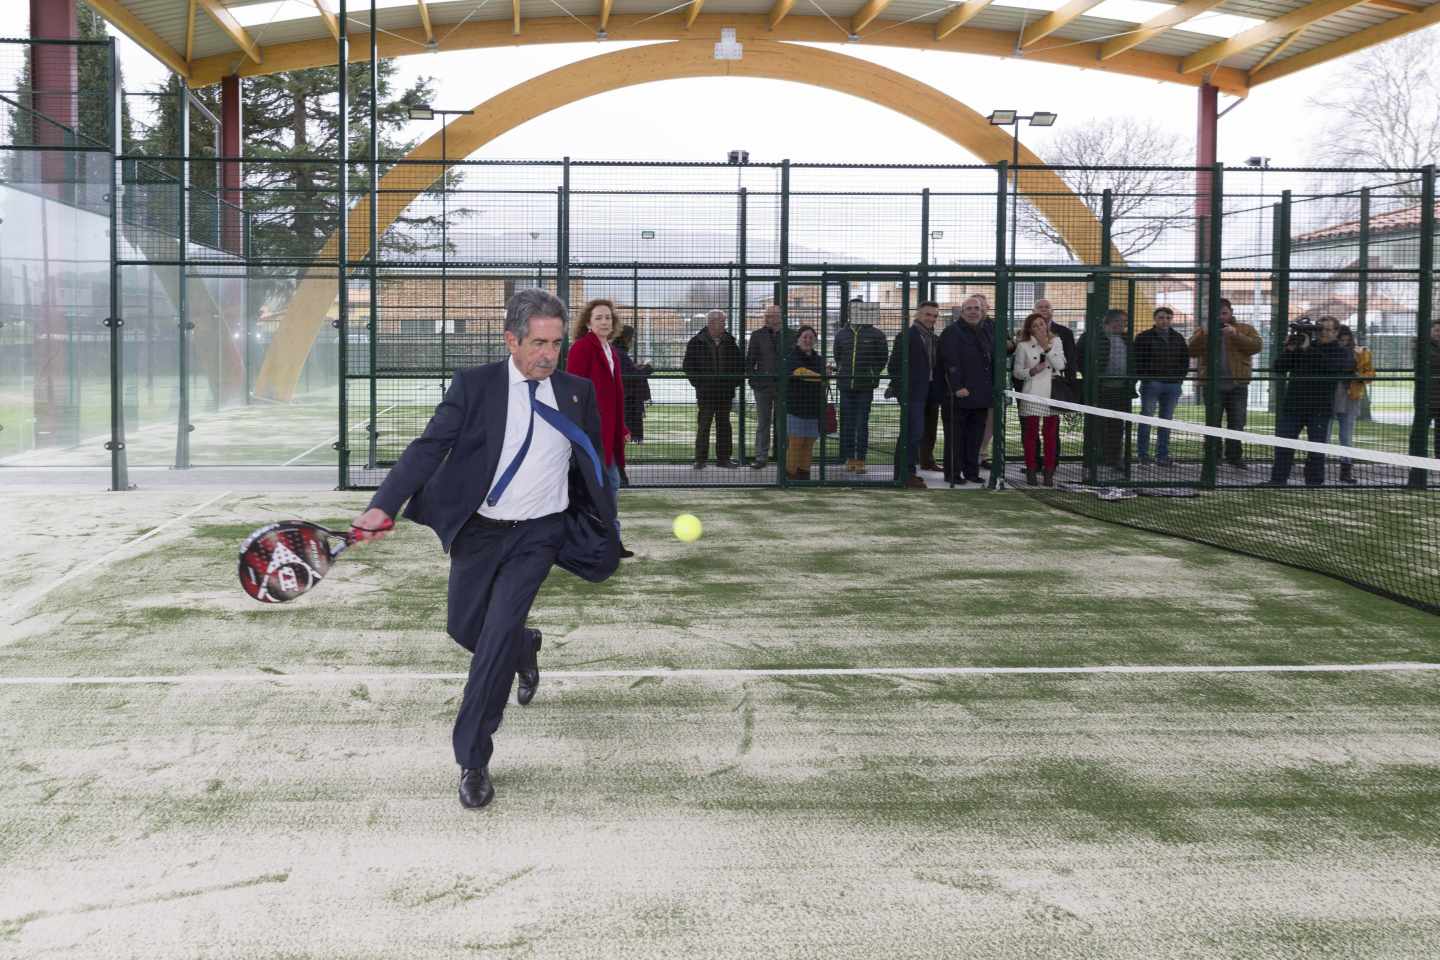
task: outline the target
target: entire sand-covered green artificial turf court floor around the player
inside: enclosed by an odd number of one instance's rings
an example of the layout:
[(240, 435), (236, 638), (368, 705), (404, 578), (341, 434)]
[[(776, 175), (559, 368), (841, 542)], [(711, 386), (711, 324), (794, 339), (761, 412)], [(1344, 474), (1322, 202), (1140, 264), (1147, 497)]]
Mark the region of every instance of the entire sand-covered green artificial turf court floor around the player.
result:
[(0, 957), (1440, 941), (1431, 615), (1018, 494), (625, 491), (639, 556), (552, 574), (540, 692), (467, 812), (428, 530), (292, 604), (235, 581), (253, 527), (364, 499), (10, 498)]

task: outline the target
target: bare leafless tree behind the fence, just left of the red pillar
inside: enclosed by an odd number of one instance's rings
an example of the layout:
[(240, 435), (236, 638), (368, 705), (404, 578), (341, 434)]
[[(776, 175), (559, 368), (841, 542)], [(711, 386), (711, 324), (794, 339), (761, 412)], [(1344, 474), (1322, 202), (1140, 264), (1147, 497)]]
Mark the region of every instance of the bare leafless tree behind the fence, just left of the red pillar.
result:
[[(1176, 168), (1189, 166), (1191, 154), (1188, 140), (1176, 138), (1153, 121), (1122, 115), (1067, 124), (1050, 142), (1044, 160), (1060, 167), (1056, 174), (1096, 219), (1104, 191), (1112, 191), (1110, 240), (1130, 259), (1155, 246), (1172, 226), (1194, 222), (1194, 174)], [(1022, 196), (1024, 186), (1021, 174)], [(1060, 230), (1028, 204), (1020, 210), (1020, 229), (1074, 255)]]

